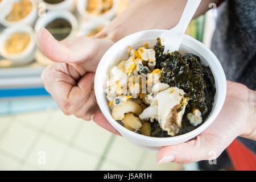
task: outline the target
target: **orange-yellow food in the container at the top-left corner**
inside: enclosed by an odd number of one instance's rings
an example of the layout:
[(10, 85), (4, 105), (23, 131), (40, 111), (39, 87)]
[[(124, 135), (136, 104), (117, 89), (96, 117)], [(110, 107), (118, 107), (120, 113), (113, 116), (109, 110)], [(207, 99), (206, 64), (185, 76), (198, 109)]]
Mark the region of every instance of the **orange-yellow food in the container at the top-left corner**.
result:
[(32, 3), (28, 0), (15, 2), (11, 12), (5, 17), (9, 22), (16, 22), (25, 18), (32, 10)]

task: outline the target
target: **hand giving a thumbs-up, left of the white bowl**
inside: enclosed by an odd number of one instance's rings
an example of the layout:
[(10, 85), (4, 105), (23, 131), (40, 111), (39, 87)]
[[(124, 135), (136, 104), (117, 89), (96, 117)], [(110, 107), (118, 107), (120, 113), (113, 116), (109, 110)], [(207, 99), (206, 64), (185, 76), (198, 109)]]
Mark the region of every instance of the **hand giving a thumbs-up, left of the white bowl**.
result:
[(89, 121), (100, 111), (94, 96), (94, 72), (114, 42), (86, 36), (58, 42), (45, 28), (37, 38), (44, 55), (55, 62), (42, 73), (47, 92), (65, 114)]

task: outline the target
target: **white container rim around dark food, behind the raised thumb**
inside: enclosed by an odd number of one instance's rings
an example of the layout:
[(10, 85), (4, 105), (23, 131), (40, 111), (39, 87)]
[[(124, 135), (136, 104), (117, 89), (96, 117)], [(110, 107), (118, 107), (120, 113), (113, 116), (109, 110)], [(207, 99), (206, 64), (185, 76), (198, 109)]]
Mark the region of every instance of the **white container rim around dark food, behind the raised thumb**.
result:
[(65, 39), (71, 39), (76, 36), (77, 31), (77, 19), (67, 10), (48, 11), (44, 16), (40, 17), (35, 24), (36, 33), (43, 27), (46, 27), (48, 23), (52, 22), (56, 18), (63, 18), (71, 23), (72, 30)]

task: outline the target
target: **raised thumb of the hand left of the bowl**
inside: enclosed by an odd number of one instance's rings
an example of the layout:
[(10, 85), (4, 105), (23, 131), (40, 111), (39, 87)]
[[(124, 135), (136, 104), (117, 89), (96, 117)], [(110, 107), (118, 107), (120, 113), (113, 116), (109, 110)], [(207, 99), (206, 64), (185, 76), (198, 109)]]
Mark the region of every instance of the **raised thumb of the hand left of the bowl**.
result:
[(54, 62), (79, 64), (92, 59), (97, 53), (96, 41), (86, 36), (59, 42), (46, 28), (42, 28), (37, 40), (44, 55)]

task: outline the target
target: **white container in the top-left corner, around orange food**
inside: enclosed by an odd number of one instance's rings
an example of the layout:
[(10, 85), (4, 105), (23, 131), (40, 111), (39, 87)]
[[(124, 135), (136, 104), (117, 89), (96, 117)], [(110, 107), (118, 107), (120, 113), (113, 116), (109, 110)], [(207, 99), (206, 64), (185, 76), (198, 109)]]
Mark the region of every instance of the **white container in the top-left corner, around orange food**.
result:
[(8, 13), (5, 13), (5, 15), (0, 16), (0, 22), (6, 27), (20, 26), (20, 25), (33, 26), (35, 23), (35, 20), (37, 18), (37, 12), (38, 12), (38, 7), (37, 7), (36, 1), (30, 0), (30, 2), (32, 3), (32, 10), (30, 11), (30, 13), (27, 16), (25, 16), (24, 18), (22, 18), (18, 21), (15, 21), (15, 22), (9, 22), (5, 19), (6, 15), (8, 15), (10, 13), (10, 11), (13, 9), (13, 3), (15, 3), (16, 1), (11, 0), (10, 2), (12, 2), (12, 5), (11, 6), (6, 5), (6, 10), (8, 11)]

